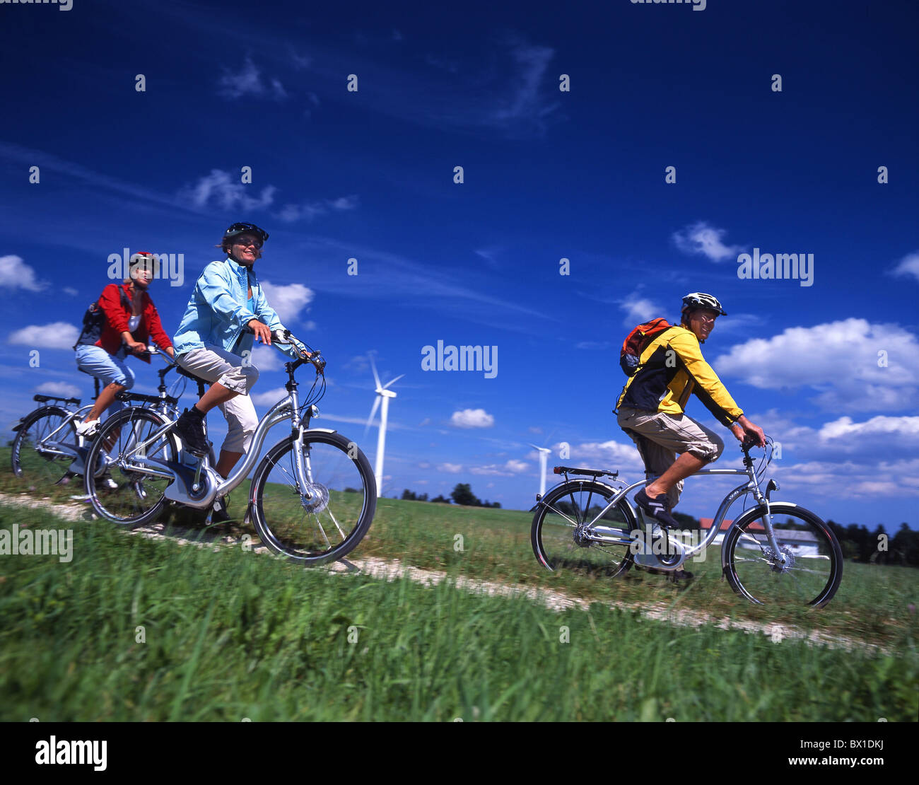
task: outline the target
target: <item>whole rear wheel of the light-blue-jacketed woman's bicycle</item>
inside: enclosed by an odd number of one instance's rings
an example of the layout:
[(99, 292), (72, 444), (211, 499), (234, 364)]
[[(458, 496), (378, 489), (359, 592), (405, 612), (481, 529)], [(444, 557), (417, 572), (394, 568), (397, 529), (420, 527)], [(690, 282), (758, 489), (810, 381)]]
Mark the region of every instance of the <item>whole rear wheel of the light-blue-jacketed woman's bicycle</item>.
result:
[[(151, 409), (130, 406), (102, 424), (86, 457), (85, 489), (96, 515), (132, 527), (159, 515), (165, 504), (166, 487), (172, 481), (149, 472), (131, 471), (131, 461), (125, 456), (168, 422)], [(176, 434), (169, 431), (158, 437), (144, 455), (177, 463), (180, 452)], [(100, 471), (104, 465), (108, 465), (108, 472)], [(117, 487), (109, 489), (108, 479)]]

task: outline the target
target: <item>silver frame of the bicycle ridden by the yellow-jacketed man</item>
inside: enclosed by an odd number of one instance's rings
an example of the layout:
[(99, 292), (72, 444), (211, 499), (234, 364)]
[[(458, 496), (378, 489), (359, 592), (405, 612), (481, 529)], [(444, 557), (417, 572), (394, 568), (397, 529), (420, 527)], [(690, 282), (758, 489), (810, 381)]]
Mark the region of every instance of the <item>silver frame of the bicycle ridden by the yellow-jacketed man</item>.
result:
[[(675, 569), (680, 564), (684, 563), (686, 559), (688, 559), (690, 556), (693, 556), (698, 552), (704, 551), (711, 544), (711, 542), (718, 536), (720, 532), (721, 522), (724, 520), (724, 517), (727, 515), (728, 510), (731, 508), (732, 504), (735, 501), (737, 501), (737, 499), (739, 499), (741, 496), (751, 494), (751, 493), (754, 495), (757, 506), (762, 505), (762, 504), (766, 505), (766, 515), (763, 518), (765, 529), (766, 529), (766, 539), (770, 547), (774, 550), (774, 552), (776, 552), (777, 554), (780, 554), (781, 563), (785, 563), (785, 556), (781, 555), (781, 549), (779, 548), (775, 530), (773, 529), (773, 526), (772, 526), (772, 516), (769, 512), (769, 492), (771, 491), (772, 488), (777, 488), (778, 485), (775, 483), (775, 481), (769, 480), (769, 484), (767, 485), (767, 488), (766, 488), (766, 494), (764, 494), (759, 487), (759, 482), (757, 481), (756, 474), (753, 470), (753, 460), (750, 459), (748, 456), (744, 459), (744, 463), (747, 464), (745, 469), (700, 469), (698, 472), (695, 472), (694, 474), (690, 475), (691, 477), (697, 477), (699, 475), (702, 475), (702, 476), (704, 475), (745, 476), (747, 478), (747, 481), (741, 485), (738, 485), (736, 488), (734, 488), (728, 495), (726, 495), (721, 500), (721, 503), (718, 507), (718, 512), (715, 514), (715, 518), (712, 520), (711, 528), (709, 529), (709, 533), (705, 536), (705, 539), (699, 542), (697, 545), (689, 546), (689, 547), (685, 547), (681, 543), (679, 550), (681, 552), (682, 557), (680, 558), (679, 562), (672, 564), (672, 565), (660, 563), (658, 565), (660, 566), (660, 568)], [(592, 541), (598, 542), (598, 543), (606, 543), (608, 545), (631, 545), (633, 540), (630, 537), (625, 537), (625, 538), (622, 537), (621, 529), (613, 529), (611, 527), (602, 526), (602, 525), (597, 524), (597, 521), (600, 518), (603, 518), (603, 516), (605, 516), (607, 512), (609, 512), (614, 506), (617, 506), (620, 501), (624, 502), (624, 504), (629, 506), (632, 515), (636, 519), (641, 519), (642, 521), (645, 521), (645, 518), (643, 515), (639, 516), (637, 514), (638, 512), (641, 512), (641, 510), (638, 510), (638, 511), (636, 510), (635, 506), (633, 506), (630, 503), (628, 495), (632, 491), (636, 490), (637, 488), (643, 487), (645, 484), (647, 484), (648, 480), (652, 478), (653, 478), (652, 475), (648, 475), (646, 479), (641, 480), (637, 483), (632, 483), (630, 485), (626, 485), (625, 482), (622, 480), (616, 480), (615, 482), (620, 484), (619, 488), (616, 488), (615, 486), (611, 484), (602, 482), (599, 478), (595, 478), (594, 480), (592, 480), (591, 482), (593, 483), (605, 485), (607, 488), (609, 488), (610, 491), (613, 492), (614, 495), (613, 495), (613, 498), (607, 504), (607, 506), (605, 506), (599, 513), (597, 513), (596, 516), (592, 520), (590, 520), (589, 522), (585, 522), (585, 527), (587, 531), (589, 532), (588, 534), (589, 539)], [(562, 483), (556, 484), (551, 490), (561, 487), (564, 484), (568, 484), (569, 482), (572, 482), (572, 481), (565, 480)], [(549, 495), (548, 491), (546, 495)], [(577, 525), (577, 522), (572, 521), (571, 518), (568, 518), (559, 510), (554, 510), (554, 512), (556, 512), (558, 515), (562, 515), (562, 517), (564, 518), (567, 518), (574, 525)], [(647, 523), (647, 521), (645, 521), (645, 523)], [(735, 528), (735, 526), (736, 526), (736, 522), (732, 523), (731, 527), (727, 531), (724, 532), (725, 538), (727, 538), (727, 535), (730, 533), (732, 529)], [(721, 553), (722, 564), (724, 563), (724, 560), (725, 560), (725, 554), (722, 552)]]

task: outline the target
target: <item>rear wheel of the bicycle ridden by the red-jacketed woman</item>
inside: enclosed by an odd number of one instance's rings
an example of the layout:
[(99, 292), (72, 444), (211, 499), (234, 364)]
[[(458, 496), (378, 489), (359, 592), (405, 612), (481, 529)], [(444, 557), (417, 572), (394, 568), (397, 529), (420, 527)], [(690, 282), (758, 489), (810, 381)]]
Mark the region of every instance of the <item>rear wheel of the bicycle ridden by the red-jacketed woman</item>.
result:
[(42, 406), (28, 415), (13, 439), (13, 473), (44, 488), (59, 482), (79, 446), (74, 416), (61, 406)]

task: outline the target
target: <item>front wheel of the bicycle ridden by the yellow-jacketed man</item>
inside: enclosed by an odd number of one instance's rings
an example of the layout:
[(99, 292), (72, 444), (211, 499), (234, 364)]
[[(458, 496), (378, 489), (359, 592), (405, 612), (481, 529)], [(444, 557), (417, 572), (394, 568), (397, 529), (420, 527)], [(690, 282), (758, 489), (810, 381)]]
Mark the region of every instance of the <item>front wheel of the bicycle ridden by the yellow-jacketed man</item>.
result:
[(823, 608), (843, 578), (839, 540), (803, 507), (774, 502), (769, 511), (778, 553), (766, 538), (766, 505), (748, 510), (735, 521), (722, 546), (728, 583), (757, 605)]

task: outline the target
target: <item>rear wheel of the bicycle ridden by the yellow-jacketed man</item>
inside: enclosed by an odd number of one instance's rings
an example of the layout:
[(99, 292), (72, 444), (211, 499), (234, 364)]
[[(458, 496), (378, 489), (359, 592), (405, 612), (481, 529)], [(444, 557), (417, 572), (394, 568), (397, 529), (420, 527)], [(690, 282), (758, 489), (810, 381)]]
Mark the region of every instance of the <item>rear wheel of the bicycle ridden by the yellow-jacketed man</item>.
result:
[[(542, 497), (530, 532), (533, 552), (549, 570), (576, 570), (616, 577), (632, 565), (630, 532), (638, 525), (625, 498), (600, 518), (617, 494), (615, 488), (591, 480), (572, 480)], [(596, 521), (595, 521), (595, 518)], [(609, 530), (629, 543), (604, 544), (589, 539), (588, 524)]]

